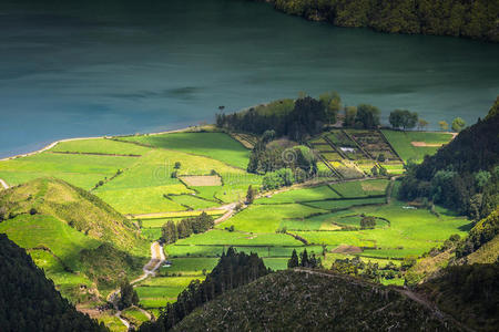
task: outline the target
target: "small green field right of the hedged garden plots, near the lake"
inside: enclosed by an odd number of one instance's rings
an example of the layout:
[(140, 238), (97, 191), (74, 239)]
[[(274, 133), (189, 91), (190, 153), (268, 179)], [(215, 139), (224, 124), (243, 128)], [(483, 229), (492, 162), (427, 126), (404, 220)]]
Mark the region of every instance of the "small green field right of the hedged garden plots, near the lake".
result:
[(424, 142), (426, 144), (442, 145), (452, 139), (452, 135), (448, 133), (431, 132), (398, 132), (384, 129), (383, 134), (395, 148), (397, 154), (407, 162), (421, 162), (425, 155), (432, 155), (438, 151), (438, 146), (419, 146), (416, 147), (411, 142)]

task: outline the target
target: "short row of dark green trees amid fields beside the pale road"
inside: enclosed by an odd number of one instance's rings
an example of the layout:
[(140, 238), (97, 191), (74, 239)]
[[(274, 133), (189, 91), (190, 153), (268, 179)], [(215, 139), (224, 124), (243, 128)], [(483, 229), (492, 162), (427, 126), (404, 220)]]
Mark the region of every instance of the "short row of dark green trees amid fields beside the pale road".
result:
[(192, 234), (205, 232), (213, 226), (215, 226), (213, 217), (205, 211), (198, 216), (182, 219), (176, 224), (169, 220), (161, 227), (160, 241), (166, 245), (174, 243), (179, 239), (189, 238)]

